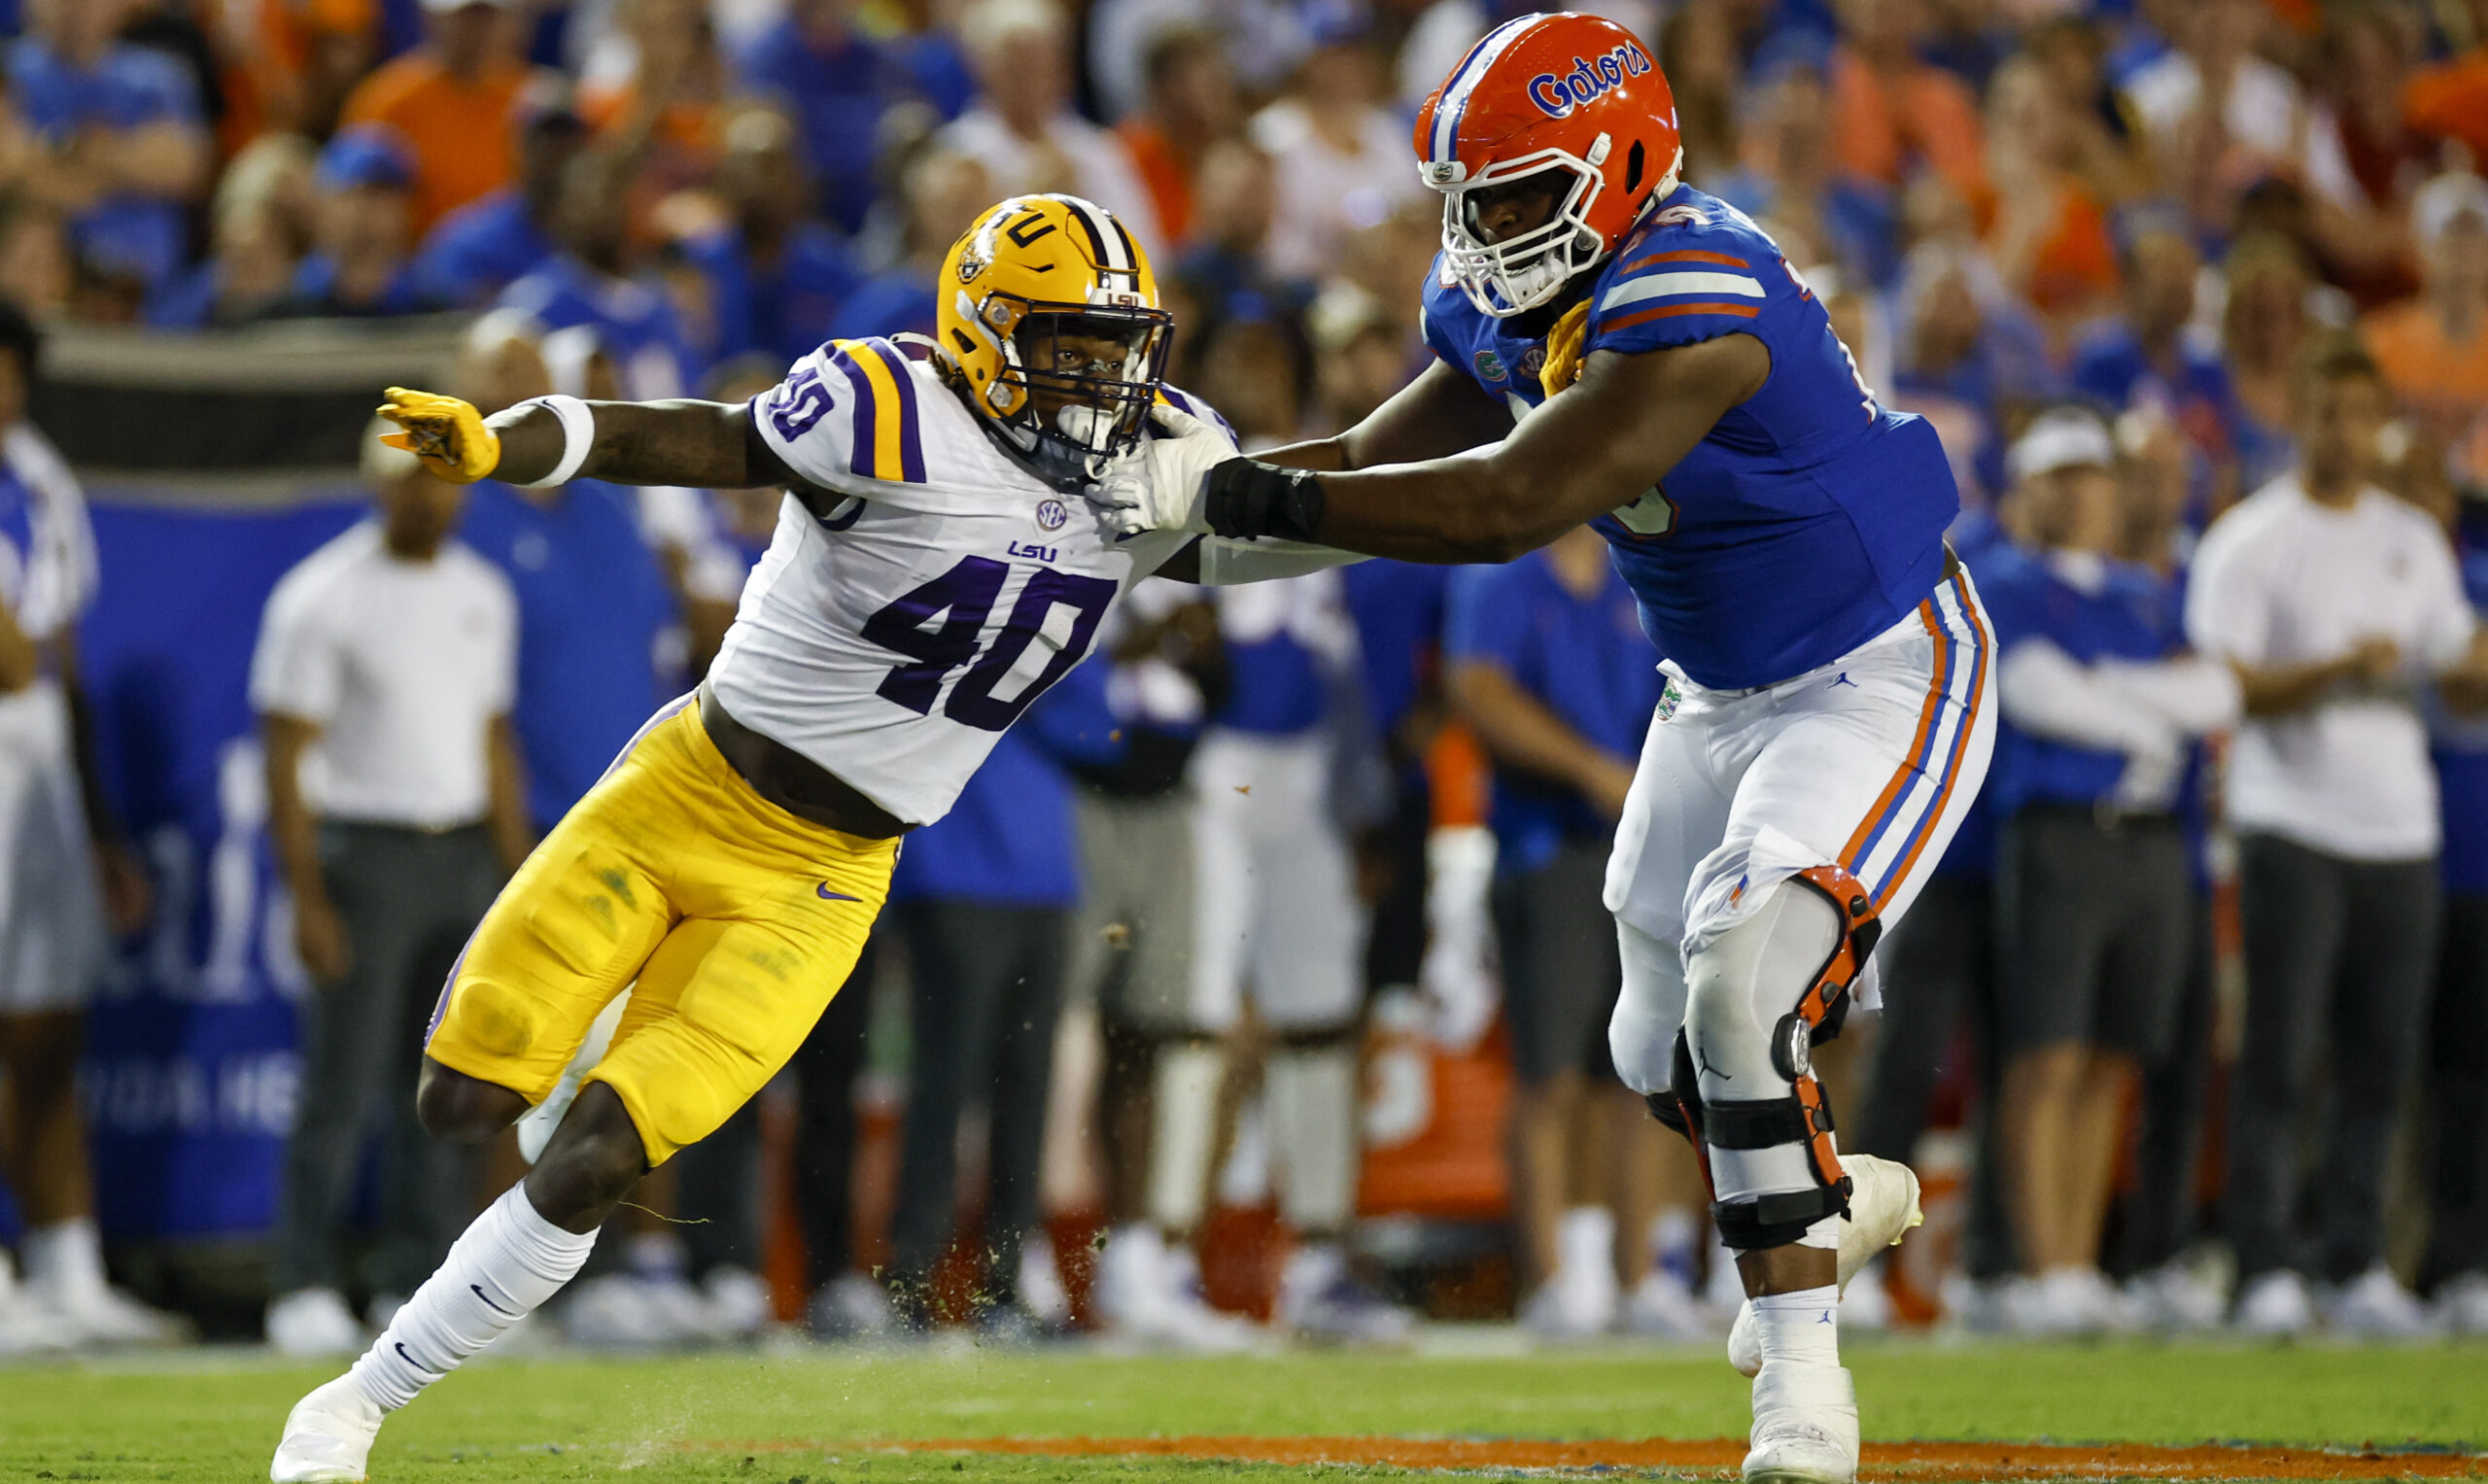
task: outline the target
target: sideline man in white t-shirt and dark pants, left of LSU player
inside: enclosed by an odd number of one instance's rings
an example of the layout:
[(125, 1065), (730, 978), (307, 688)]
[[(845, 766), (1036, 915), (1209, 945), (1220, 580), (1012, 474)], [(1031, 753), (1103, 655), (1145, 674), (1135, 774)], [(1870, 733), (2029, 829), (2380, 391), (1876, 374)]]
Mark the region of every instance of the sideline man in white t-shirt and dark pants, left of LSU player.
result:
[(341, 1237), (373, 1118), (388, 1125), (373, 1322), (473, 1213), (470, 1150), (423, 1138), (415, 1046), (435, 986), (527, 852), (518, 742), (518, 598), (450, 533), (465, 491), (363, 441), (378, 513), (286, 573), (251, 655), (269, 839), (294, 894), (304, 1088), (286, 1145), (266, 1335), (351, 1352)]

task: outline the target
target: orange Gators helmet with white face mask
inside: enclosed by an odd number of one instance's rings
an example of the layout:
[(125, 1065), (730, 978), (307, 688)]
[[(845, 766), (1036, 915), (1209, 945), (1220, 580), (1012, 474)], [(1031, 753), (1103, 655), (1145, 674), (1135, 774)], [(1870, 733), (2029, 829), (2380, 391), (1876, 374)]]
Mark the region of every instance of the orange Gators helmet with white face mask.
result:
[[(1523, 15), (1485, 32), (1416, 115), (1418, 177), (1443, 192), (1443, 264), (1495, 319), (1553, 299), (1677, 189), (1677, 100), (1630, 30)], [(1478, 192), (1560, 172), (1555, 212), (1510, 242), (1478, 232)]]

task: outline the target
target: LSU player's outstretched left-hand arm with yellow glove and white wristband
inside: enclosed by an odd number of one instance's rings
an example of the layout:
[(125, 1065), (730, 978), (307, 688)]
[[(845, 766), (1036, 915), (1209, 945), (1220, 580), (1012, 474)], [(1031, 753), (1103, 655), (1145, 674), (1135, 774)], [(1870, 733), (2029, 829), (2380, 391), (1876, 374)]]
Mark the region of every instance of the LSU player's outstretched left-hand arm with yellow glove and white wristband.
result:
[[(796, 483), (751, 426), (751, 408), (724, 401), (592, 401), (595, 441), (577, 478), (622, 486), (744, 491)], [(530, 483), (562, 463), (562, 421), (542, 403), (480, 418), (453, 396), (388, 388), (381, 416), (403, 426), (406, 448), (455, 481)]]

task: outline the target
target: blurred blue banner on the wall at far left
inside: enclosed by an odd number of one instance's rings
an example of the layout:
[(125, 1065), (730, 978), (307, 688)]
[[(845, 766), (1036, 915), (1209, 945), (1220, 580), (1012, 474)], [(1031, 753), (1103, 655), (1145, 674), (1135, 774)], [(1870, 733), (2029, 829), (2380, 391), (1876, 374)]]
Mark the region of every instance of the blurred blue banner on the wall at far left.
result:
[(294, 911), (266, 849), (249, 705), (269, 590), (363, 513), (361, 493), (271, 513), (114, 505), (80, 630), (104, 789), (157, 889), (87, 1021), (85, 1093), (107, 1235), (264, 1233), (294, 1125)]

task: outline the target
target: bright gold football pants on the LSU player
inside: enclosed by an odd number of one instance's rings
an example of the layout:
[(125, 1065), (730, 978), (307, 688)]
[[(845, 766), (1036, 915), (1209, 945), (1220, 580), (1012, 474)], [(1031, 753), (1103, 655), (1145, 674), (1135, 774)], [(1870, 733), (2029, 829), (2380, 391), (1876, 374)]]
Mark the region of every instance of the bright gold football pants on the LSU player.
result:
[(856, 966), (896, 862), (896, 839), (761, 799), (677, 702), (493, 901), (425, 1053), (542, 1103), (637, 981), (587, 1081), (622, 1096), (659, 1165), (786, 1066)]

